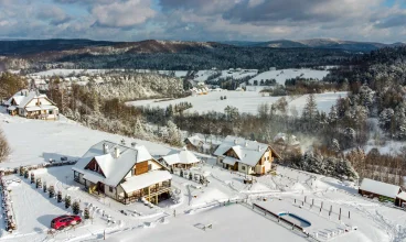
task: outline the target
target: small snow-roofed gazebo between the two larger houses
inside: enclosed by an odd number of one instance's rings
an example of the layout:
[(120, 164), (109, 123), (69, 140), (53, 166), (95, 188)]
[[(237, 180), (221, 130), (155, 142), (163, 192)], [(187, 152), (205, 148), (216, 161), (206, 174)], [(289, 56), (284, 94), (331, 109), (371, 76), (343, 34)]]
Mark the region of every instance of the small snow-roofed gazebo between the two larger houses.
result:
[(190, 169), (200, 163), (200, 160), (191, 151), (188, 151), (186, 147), (180, 152), (172, 151), (168, 155), (162, 156), (159, 161), (168, 167), (184, 169)]

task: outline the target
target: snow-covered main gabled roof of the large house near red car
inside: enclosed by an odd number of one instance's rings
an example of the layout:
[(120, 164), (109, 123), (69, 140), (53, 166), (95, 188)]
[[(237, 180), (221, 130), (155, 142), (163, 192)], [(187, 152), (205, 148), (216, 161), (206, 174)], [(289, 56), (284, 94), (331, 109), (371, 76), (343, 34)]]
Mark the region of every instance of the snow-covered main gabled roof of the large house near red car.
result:
[[(104, 152), (104, 144), (108, 145), (106, 154)], [(119, 151), (117, 158), (114, 155), (116, 147)], [(109, 186), (117, 186), (137, 163), (153, 160), (143, 145), (128, 147), (110, 141), (101, 141), (93, 145), (72, 169), (85, 175), (97, 174), (96, 172), (85, 169), (93, 158), (96, 160), (105, 175), (103, 183)]]

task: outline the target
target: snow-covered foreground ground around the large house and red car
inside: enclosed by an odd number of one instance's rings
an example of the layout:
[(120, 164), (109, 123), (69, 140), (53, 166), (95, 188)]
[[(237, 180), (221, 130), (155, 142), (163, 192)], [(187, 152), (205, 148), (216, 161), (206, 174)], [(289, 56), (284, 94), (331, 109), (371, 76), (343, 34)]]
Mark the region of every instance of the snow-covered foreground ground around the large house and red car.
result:
[[(43, 163), (49, 157), (67, 156), (74, 160), (100, 140), (119, 142), (126, 139), (132, 142), (129, 138), (90, 130), (68, 120), (25, 120), (0, 113), (0, 127), (12, 148), (9, 161), (1, 164), (2, 167)], [(172, 150), (162, 144), (136, 142), (145, 144), (154, 156)], [(193, 174), (209, 174), (207, 187), (180, 177), (175, 172), (172, 186), (179, 191), (178, 202), (162, 201), (153, 208), (141, 202), (124, 206), (108, 198), (88, 195), (73, 182), (71, 166), (38, 169), (34, 173), (35, 177), (41, 177), (49, 186), (55, 186), (63, 195), (79, 200), (81, 209), (90, 208), (94, 219), (75, 229), (47, 234), (52, 218), (70, 213), (72, 209), (65, 209), (63, 204), (35, 189), (28, 179), (10, 175), (7, 179), (15, 182), (10, 189), (18, 230), (9, 234), (3, 227), (0, 228), (0, 241), (101, 241), (104, 233), (107, 241), (125, 242), (307, 240), (299, 230), (292, 231), (269, 215), (253, 210), (253, 204), (275, 213), (289, 211), (308, 220), (311, 226), (306, 228), (307, 232), (310, 235), (317, 233), (319, 241), (392, 242), (406, 239), (405, 211), (360, 197), (351, 183), (282, 166), (277, 167), (277, 175), (249, 177), (255, 182), (248, 185), (244, 184), (245, 175), (225, 170), (215, 165), (214, 158), (209, 158), (192, 169)], [(21, 182), (17, 183), (18, 179)], [(228, 204), (228, 200), (236, 199), (238, 205)], [(301, 202), (303, 206), (300, 208)], [(320, 212), (321, 204), (323, 208)], [(329, 218), (330, 207), (332, 213)], [(340, 208), (342, 217), (339, 220)], [(108, 223), (106, 215), (115, 222)], [(212, 227), (209, 228), (209, 224)], [(344, 229), (349, 232), (342, 232)]]

